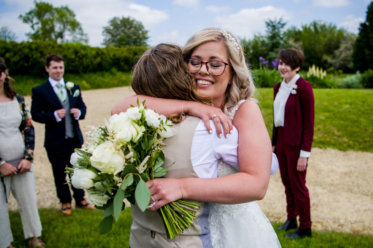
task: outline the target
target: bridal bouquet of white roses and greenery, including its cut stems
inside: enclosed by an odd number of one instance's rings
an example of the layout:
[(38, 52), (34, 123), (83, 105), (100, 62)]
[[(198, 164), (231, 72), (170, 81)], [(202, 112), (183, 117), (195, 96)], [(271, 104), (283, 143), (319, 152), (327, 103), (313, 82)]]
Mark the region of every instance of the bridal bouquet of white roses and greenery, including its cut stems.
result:
[[(168, 167), (161, 167), (163, 139), (174, 136), (175, 129), (165, 116), (146, 109), (144, 102), (113, 115), (104, 126), (90, 126), (86, 133), (90, 143), (75, 149), (70, 160), (73, 168), (66, 168), (73, 186), (86, 189), (95, 207), (104, 210), (98, 225), (100, 235), (112, 229), (114, 218), (117, 221), (125, 207), (125, 198), (144, 212), (151, 197), (145, 182), (168, 173)], [(198, 207), (183, 200), (161, 207), (158, 213), (167, 238), (188, 228)]]

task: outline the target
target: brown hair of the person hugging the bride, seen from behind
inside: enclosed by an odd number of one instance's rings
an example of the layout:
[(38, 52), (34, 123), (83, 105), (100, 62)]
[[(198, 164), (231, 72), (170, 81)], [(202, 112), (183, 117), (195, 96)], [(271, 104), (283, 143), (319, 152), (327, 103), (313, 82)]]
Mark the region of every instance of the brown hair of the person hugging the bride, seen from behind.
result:
[[(144, 52), (134, 67), (131, 87), (139, 95), (211, 105), (210, 100), (198, 97), (181, 48), (173, 44), (161, 43)], [(178, 123), (182, 118), (177, 114), (170, 120)]]

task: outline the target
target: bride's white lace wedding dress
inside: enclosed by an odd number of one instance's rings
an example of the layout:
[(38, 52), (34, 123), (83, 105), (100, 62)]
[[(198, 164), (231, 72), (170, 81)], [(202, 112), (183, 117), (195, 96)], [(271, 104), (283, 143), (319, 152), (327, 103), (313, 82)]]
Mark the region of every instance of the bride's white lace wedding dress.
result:
[[(244, 101), (231, 107), (228, 114), (230, 119), (233, 119)], [(237, 172), (231, 165), (219, 160), (218, 177)], [(281, 247), (272, 224), (256, 202), (233, 205), (211, 203), (208, 222), (214, 248)]]

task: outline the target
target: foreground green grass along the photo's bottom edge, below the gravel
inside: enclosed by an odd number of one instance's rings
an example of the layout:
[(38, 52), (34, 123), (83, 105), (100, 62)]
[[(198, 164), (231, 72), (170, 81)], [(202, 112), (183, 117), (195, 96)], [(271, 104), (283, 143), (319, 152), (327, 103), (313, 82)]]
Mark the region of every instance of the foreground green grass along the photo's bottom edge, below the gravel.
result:
[[(131, 209), (125, 209), (119, 217), (118, 223), (113, 224), (111, 232), (98, 236), (97, 225), (102, 220), (101, 210), (74, 210), (72, 216), (62, 216), (56, 209), (40, 209), (40, 219), (43, 225), (43, 236), (46, 247), (65, 248), (116, 248), (128, 247), (129, 228), (132, 223)], [(18, 212), (10, 212), (13, 232), (13, 245), (17, 248), (27, 247), (23, 238), (21, 218)], [(277, 230), (280, 223), (272, 223)], [(339, 232), (315, 232), (313, 238), (292, 241), (285, 238), (284, 231), (277, 232), (283, 248), (368, 248), (373, 247), (372, 235), (358, 235)], [(250, 233), (248, 233), (250, 235)]]

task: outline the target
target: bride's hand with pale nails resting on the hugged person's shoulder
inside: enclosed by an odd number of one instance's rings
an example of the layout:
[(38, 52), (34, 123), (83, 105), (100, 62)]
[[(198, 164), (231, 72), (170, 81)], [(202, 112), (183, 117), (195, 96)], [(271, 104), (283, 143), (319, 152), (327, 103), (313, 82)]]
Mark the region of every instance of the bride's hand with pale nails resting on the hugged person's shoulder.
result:
[[(225, 113), (223, 113), (221, 109), (214, 107), (214, 106), (209, 106), (203, 103), (197, 103), (197, 102), (191, 102), (191, 101), (188, 101), (188, 102), (185, 101), (184, 104), (186, 107), (186, 112), (188, 112), (188, 114), (191, 116), (200, 117), (205, 123), (207, 131), (209, 131), (210, 133), (212, 133), (211, 126), (210, 126), (211, 119), (213, 120), (216, 126), (217, 136), (220, 137), (220, 134), (222, 134), (221, 125), (223, 125), (225, 137), (227, 136), (228, 133), (232, 131), (233, 129), (232, 120), (229, 119), (229, 117)], [(214, 115), (216, 115), (216, 117), (214, 117)]]

